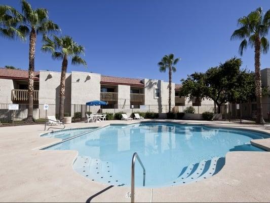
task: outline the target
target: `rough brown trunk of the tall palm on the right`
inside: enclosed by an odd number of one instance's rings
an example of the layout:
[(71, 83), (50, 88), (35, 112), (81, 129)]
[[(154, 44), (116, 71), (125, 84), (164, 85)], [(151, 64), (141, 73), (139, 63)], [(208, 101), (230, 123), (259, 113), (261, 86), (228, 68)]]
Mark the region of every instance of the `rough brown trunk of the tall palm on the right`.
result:
[(257, 123), (264, 123), (261, 104), (261, 74), (260, 74), (260, 37), (255, 39), (255, 94), (257, 99)]

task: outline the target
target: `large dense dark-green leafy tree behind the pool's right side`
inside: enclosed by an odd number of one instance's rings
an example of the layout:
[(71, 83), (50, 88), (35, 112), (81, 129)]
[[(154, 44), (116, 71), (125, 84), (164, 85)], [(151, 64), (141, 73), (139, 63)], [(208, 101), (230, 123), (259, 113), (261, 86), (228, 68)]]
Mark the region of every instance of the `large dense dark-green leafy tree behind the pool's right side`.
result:
[(221, 113), (221, 105), (232, 100), (240, 74), (241, 59), (232, 58), (206, 73), (195, 73), (182, 79), (181, 96), (212, 99)]

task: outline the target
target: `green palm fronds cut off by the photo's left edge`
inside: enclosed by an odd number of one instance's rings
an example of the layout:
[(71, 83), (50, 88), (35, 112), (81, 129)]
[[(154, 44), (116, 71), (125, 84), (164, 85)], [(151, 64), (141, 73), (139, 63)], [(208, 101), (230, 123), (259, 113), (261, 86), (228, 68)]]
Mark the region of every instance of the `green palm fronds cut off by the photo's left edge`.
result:
[(14, 40), (19, 38), (25, 40), (25, 33), (18, 29), (23, 16), (8, 5), (0, 5), (0, 35), (4, 38)]

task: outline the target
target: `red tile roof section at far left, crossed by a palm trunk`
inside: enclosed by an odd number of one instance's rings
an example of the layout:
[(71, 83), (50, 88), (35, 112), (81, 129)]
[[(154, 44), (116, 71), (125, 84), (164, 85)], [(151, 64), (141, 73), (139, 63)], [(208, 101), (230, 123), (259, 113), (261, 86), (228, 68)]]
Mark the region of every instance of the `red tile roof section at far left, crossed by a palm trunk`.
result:
[[(34, 72), (34, 80), (38, 80), (38, 75), (40, 72)], [(0, 68), (0, 78), (27, 80), (28, 71)]]

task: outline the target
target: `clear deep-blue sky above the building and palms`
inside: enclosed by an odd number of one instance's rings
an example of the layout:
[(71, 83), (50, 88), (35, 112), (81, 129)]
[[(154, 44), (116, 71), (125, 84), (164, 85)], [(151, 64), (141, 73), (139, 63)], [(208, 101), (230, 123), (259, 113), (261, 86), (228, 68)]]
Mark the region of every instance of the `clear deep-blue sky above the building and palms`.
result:
[[(157, 63), (165, 54), (181, 57), (173, 81), (195, 71), (202, 72), (219, 62), (239, 56), (240, 41), (230, 41), (237, 19), (258, 7), (270, 9), (270, 1), (34, 1), (33, 8), (47, 8), (49, 18), (60, 25), (62, 35), (86, 48), (88, 68), (73, 66), (70, 71), (89, 71), (102, 75), (153, 78), (168, 81)], [(19, 0), (0, 0), (20, 9)], [(268, 38), (269, 39), (269, 38)], [(0, 66), (28, 68), (27, 42), (0, 38)], [(37, 38), (35, 69), (60, 71), (61, 61), (42, 53)], [(254, 50), (242, 57), (243, 67), (254, 70)], [(270, 66), (270, 52), (261, 57), (261, 69)]]

